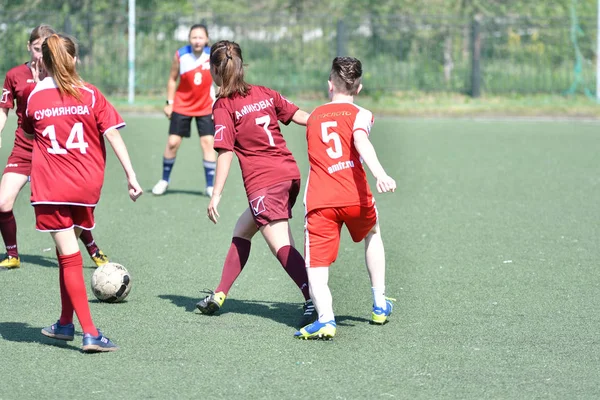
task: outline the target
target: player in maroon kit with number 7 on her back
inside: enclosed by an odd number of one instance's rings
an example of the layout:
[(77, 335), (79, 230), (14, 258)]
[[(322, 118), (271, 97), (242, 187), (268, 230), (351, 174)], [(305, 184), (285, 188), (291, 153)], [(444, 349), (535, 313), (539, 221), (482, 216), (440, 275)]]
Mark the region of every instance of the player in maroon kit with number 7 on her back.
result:
[(249, 207), (237, 221), (217, 289), (197, 304), (205, 313), (217, 311), (250, 255), (252, 237), (260, 231), (269, 248), (304, 295), (304, 312), (312, 316), (306, 268), (293, 247), (288, 220), (300, 191), (300, 171), (288, 150), (279, 122), (306, 125), (308, 114), (279, 93), (244, 81), (242, 50), (234, 42), (215, 43), (210, 52), (213, 79), (220, 87), (213, 108), (217, 173), (208, 218), (217, 223), (217, 206), (238, 157)]

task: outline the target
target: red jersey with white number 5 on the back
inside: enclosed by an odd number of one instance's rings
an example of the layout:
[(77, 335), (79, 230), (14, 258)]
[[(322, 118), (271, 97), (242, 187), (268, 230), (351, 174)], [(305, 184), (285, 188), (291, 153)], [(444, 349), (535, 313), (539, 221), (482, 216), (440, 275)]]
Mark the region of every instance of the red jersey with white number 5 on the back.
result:
[(362, 160), (354, 147), (356, 131), (367, 134), (373, 114), (348, 102), (332, 102), (317, 107), (306, 124), (310, 172), (306, 183), (306, 212), (318, 208), (371, 206)]

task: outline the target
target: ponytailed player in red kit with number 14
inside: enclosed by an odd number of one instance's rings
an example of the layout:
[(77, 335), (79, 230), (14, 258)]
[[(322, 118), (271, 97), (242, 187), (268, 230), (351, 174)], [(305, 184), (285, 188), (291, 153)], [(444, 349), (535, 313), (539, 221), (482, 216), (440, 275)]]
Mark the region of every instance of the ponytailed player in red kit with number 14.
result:
[(135, 201), (142, 189), (117, 130), (125, 122), (96, 87), (79, 77), (73, 40), (51, 35), (42, 44), (42, 53), (48, 77), (31, 92), (22, 124), (34, 138), (31, 204), (36, 229), (50, 232), (60, 271), (60, 319), (42, 333), (73, 340), (75, 312), (84, 333), (82, 350), (113, 351), (114, 343), (92, 322), (77, 244), (82, 230), (94, 228), (94, 207), (104, 181), (104, 138), (125, 170), (131, 199)]

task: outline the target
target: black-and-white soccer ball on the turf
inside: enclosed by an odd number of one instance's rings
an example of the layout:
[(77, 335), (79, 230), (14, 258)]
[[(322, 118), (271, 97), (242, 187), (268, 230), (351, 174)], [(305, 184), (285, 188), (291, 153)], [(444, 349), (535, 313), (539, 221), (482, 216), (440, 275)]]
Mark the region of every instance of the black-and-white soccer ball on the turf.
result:
[(92, 292), (100, 301), (118, 303), (131, 290), (131, 276), (121, 264), (109, 262), (96, 268), (92, 275)]

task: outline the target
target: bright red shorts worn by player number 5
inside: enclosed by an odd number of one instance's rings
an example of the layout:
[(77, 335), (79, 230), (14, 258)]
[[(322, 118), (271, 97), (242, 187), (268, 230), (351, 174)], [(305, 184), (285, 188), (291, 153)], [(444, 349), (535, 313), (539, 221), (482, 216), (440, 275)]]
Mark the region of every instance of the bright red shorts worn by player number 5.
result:
[(352, 240), (360, 242), (377, 224), (375, 206), (348, 206), (312, 210), (304, 222), (304, 258), (307, 267), (328, 267), (337, 258), (340, 232), (346, 224)]

